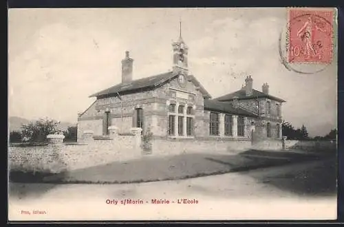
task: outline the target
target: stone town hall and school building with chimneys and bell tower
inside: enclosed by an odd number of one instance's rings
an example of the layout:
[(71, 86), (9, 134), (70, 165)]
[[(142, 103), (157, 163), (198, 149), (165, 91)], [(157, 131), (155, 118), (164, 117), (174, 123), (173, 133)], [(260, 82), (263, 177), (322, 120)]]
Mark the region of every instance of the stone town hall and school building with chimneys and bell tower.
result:
[(125, 133), (132, 127), (151, 133), (152, 140), (261, 141), (281, 139), (281, 98), (271, 96), (268, 84), (262, 91), (245, 86), (212, 98), (197, 76), (189, 73), (189, 47), (182, 37), (173, 45), (173, 67), (148, 78), (133, 80), (133, 58), (122, 60), (122, 83), (99, 91), (94, 103), (78, 116), (78, 138), (92, 130), (108, 136), (109, 127)]

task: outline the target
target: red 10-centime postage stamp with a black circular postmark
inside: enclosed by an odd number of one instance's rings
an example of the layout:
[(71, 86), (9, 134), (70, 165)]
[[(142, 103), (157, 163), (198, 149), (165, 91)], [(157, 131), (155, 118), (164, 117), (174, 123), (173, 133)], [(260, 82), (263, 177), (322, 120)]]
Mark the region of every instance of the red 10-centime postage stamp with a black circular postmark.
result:
[(288, 20), (289, 63), (331, 63), (333, 11), (294, 8)]

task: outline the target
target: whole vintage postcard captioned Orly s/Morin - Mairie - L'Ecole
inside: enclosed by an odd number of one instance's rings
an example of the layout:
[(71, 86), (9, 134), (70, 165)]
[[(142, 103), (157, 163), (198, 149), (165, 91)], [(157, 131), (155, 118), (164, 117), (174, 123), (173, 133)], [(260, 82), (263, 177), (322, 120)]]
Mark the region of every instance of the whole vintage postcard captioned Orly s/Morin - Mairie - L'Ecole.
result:
[(336, 14), (10, 9), (8, 219), (336, 219)]

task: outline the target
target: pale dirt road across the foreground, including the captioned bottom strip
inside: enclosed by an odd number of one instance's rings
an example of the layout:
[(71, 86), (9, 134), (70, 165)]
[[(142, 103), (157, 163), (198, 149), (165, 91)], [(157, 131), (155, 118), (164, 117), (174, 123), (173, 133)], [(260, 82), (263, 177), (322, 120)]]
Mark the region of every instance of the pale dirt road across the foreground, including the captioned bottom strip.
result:
[(10, 220), (335, 218), (334, 160), (139, 184), (10, 184)]

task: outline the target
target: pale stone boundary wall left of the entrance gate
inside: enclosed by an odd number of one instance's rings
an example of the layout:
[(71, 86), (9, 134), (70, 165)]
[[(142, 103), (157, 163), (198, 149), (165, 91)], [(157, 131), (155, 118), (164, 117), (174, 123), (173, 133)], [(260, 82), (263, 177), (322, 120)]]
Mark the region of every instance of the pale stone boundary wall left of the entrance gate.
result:
[(141, 158), (140, 135), (85, 139), (78, 144), (48, 144), (36, 147), (9, 147), (11, 171), (59, 173), (111, 162)]

